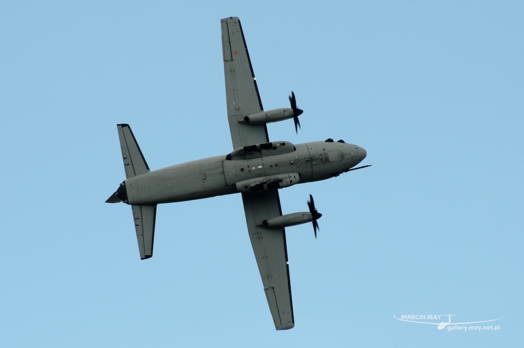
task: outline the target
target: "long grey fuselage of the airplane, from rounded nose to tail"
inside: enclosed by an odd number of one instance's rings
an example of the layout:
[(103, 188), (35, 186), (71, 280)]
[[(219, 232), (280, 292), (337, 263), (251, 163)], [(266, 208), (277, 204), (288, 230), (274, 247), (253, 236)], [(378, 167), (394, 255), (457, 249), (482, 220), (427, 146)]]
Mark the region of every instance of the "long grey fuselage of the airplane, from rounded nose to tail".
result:
[[(285, 145), (284, 142), (280, 144)], [(277, 189), (338, 176), (366, 157), (363, 148), (341, 142), (298, 144), (293, 149), (290, 149), (293, 144), (286, 144), (289, 152), (283, 154), (272, 155), (269, 149), (258, 150), (260, 155), (255, 158), (238, 159), (231, 154), (209, 157), (129, 178), (124, 181), (126, 203), (181, 202), (249, 190)], [(257, 155), (256, 150), (249, 154)]]

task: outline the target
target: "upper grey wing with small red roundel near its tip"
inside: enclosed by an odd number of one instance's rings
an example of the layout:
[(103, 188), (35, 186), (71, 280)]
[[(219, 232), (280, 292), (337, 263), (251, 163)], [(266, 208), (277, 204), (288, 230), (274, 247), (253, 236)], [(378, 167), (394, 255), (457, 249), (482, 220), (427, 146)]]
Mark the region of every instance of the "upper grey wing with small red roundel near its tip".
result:
[(238, 123), (245, 116), (264, 111), (258, 94), (246, 40), (238, 17), (221, 20), (222, 53), (226, 82), (227, 118), (233, 149), (269, 143), (266, 125)]

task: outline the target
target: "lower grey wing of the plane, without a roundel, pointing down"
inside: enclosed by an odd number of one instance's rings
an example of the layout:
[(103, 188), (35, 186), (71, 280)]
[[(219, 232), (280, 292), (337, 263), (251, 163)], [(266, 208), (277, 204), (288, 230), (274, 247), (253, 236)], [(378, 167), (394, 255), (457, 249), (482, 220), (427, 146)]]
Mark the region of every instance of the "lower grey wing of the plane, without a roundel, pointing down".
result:
[(242, 199), (249, 239), (255, 252), (275, 328), (291, 329), (294, 320), (286, 232), (283, 228), (265, 229), (259, 226), (269, 217), (282, 215), (278, 190), (242, 193)]

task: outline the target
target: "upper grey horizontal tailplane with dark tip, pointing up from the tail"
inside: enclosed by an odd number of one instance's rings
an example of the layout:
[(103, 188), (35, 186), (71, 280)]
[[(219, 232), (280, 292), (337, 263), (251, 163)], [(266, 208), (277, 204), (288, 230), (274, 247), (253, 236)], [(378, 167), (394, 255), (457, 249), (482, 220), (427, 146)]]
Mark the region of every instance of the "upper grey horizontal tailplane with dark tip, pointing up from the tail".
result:
[(126, 178), (149, 172), (149, 166), (146, 159), (138, 147), (135, 136), (128, 124), (116, 125), (118, 128), (118, 137), (120, 138), (120, 148), (122, 149), (122, 158), (124, 159), (124, 168)]

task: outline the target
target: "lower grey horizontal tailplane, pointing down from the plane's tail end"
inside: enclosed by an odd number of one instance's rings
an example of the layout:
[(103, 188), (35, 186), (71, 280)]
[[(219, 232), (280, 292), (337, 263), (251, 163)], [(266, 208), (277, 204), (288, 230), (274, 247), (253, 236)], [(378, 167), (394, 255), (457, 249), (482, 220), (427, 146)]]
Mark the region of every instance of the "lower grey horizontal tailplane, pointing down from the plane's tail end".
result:
[(157, 206), (155, 205), (132, 205), (135, 221), (136, 238), (140, 259), (153, 256), (153, 242), (155, 239), (155, 216)]

